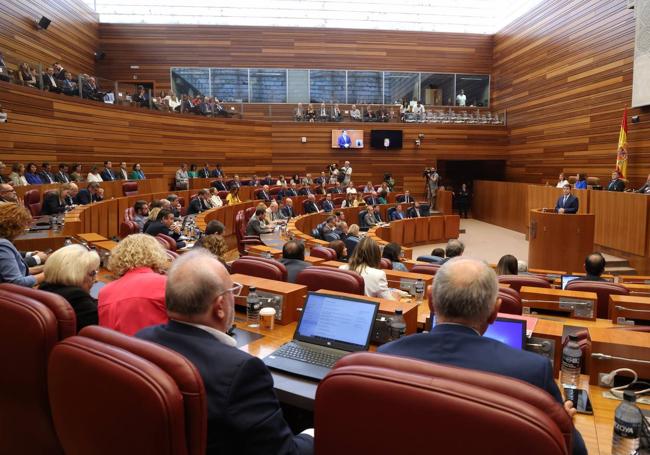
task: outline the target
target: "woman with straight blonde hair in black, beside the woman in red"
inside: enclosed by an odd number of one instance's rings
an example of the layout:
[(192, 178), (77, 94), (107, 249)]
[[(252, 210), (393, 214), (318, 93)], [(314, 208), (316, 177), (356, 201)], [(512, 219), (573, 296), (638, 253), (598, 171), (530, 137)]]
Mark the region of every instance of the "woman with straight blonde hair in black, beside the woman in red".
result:
[(82, 245), (68, 245), (50, 255), (45, 263), (41, 291), (58, 294), (77, 315), (77, 331), (97, 324), (97, 300), (90, 295), (99, 272), (99, 255)]

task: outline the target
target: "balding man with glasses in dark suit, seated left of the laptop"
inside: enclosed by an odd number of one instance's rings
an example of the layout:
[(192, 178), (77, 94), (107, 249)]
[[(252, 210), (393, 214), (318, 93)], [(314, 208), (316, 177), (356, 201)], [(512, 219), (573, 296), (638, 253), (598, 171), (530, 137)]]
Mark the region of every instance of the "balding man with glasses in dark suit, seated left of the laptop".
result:
[(169, 323), (147, 327), (136, 337), (178, 352), (198, 369), (208, 402), (206, 453), (313, 453), (312, 436), (294, 436), (284, 420), (264, 363), (237, 349), (227, 334), (241, 285), (201, 250), (174, 261), (167, 276)]

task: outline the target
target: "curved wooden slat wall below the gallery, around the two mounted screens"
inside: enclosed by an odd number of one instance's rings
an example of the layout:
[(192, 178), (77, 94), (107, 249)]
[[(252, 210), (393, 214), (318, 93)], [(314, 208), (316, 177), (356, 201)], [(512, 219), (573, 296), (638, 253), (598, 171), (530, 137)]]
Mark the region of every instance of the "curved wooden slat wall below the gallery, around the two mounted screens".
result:
[[(499, 159), (507, 147), (504, 127), (433, 124), (295, 123), (203, 119), (43, 93), (0, 82), (9, 122), (0, 125), (0, 157), (14, 161), (98, 164), (140, 162), (147, 175), (172, 175), (180, 161), (220, 162), (229, 174), (320, 173), (350, 160), (356, 183), (381, 182), (385, 172), (423, 189), (422, 171), (436, 159)], [(332, 129), (363, 129), (365, 148), (331, 148)], [(371, 129), (402, 129), (401, 150), (370, 149)], [(421, 147), (415, 146), (424, 134)], [(307, 143), (301, 142), (302, 137)], [(8, 172), (8, 170), (7, 170)]]

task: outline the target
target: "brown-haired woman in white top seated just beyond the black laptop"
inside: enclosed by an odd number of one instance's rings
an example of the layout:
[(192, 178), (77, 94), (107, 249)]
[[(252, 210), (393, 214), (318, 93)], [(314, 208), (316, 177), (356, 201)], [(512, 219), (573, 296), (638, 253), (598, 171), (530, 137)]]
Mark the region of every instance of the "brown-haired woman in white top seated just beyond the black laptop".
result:
[(386, 272), (380, 269), (380, 263), (379, 245), (370, 237), (364, 237), (354, 249), (348, 263), (339, 269), (352, 270), (361, 275), (365, 283), (365, 295), (396, 300), (396, 296), (388, 288)]

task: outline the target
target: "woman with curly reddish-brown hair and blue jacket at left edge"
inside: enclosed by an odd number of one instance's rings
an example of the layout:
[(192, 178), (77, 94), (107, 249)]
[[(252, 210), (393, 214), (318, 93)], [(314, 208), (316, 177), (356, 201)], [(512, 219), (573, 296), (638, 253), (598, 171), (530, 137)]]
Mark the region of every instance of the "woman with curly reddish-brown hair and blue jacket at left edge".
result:
[(32, 222), (25, 207), (13, 202), (0, 203), (0, 283), (32, 287), (43, 281), (43, 274), (30, 275), (13, 241)]

